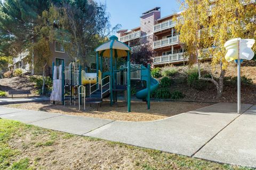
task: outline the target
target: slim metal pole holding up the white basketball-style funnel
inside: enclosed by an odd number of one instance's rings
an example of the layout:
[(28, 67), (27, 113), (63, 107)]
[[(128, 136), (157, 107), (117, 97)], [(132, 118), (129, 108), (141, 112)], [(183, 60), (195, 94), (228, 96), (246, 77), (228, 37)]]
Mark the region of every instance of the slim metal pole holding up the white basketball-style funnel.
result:
[(237, 113), (241, 113), (241, 61), (240, 61), (240, 40), (238, 41), (237, 60)]

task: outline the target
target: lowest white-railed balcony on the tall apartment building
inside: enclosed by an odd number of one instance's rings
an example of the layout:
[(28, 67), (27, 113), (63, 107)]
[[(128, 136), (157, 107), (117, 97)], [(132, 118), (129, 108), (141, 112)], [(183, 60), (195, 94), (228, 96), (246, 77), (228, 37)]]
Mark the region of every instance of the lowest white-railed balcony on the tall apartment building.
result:
[[(163, 55), (163, 56), (156, 56), (154, 58), (154, 64), (165, 64), (165, 63), (172, 63), (172, 62), (179, 62), (183, 61), (184, 53), (177, 53), (177, 54), (169, 54), (169, 55)], [(187, 61), (188, 58), (185, 57), (185, 61)]]

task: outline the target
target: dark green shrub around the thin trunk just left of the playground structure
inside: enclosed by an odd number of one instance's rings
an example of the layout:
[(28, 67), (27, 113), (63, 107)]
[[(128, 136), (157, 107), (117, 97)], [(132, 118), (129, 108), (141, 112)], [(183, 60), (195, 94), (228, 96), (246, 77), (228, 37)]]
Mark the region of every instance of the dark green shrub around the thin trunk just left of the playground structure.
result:
[[(30, 76), (30, 82), (36, 83), (35, 87), (37, 88), (37, 93), (42, 94), (42, 87), (43, 87), (43, 78), (41, 76)], [(52, 90), (52, 78), (45, 77), (45, 88), (44, 93), (47, 94)]]

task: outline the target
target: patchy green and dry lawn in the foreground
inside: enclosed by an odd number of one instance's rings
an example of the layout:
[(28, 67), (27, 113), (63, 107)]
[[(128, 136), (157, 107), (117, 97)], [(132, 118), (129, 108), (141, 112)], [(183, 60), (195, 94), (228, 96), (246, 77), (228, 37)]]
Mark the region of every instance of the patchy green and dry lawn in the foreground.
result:
[(0, 119), (0, 169), (252, 169)]

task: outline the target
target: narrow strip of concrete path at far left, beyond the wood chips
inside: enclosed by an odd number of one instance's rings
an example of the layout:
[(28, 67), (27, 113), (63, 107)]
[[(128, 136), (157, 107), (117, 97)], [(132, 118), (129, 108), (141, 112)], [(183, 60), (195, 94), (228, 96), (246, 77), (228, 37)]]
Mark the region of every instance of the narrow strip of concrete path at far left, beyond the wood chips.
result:
[(23, 97), (23, 98), (0, 98), (0, 105), (4, 104), (14, 104), (14, 103), (28, 103), (28, 102), (43, 102), (49, 101), (49, 97), (38, 96), (38, 97)]

